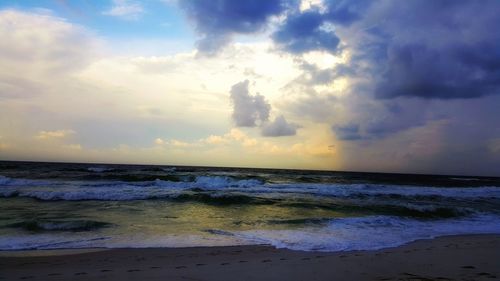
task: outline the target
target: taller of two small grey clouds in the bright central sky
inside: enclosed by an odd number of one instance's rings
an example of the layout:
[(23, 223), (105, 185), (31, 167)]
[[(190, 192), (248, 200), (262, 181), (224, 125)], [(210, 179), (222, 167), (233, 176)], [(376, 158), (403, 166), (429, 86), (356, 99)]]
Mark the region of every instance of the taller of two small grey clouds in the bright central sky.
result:
[(269, 119), (271, 105), (259, 93), (250, 95), (248, 80), (234, 84), (231, 87), (230, 99), (233, 104), (232, 118), (238, 127), (255, 127), (257, 123)]

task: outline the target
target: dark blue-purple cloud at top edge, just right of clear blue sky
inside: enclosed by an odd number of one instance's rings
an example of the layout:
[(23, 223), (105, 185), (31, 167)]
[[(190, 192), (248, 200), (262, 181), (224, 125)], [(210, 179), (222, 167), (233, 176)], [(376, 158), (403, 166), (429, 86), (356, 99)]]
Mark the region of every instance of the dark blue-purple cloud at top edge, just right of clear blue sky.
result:
[(195, 24), (201, 39), (198, 50), (213, 55), (235, 34), (252, 34), (265, 29), (270, 17), (282, 13), (284, 0), (184, 0), (179, 2)]

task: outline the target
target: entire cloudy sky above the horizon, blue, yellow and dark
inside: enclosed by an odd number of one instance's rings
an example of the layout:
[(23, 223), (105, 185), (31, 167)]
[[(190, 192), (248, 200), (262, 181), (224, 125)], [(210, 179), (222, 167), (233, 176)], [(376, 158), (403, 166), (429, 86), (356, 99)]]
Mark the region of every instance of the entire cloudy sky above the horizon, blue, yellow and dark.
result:
[(500, 176), (497, 0), (0, 1), (0, 159)]

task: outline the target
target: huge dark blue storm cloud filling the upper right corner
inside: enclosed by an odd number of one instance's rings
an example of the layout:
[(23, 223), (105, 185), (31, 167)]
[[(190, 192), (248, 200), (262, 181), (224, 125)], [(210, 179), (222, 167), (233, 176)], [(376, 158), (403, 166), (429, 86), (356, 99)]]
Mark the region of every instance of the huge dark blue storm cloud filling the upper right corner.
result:
[(366, 20), (374, 27), (354, 46), (372, 66), (377, 98), (500, 93), (499, 1), (393, 2), (378, 13), (380, 21)]

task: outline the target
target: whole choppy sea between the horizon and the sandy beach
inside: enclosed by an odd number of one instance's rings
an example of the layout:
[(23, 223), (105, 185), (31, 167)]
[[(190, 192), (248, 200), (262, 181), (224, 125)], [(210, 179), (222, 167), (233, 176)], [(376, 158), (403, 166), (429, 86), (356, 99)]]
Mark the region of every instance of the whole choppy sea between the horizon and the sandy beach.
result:
[(500, 234), (500, 178), (0, 161), (0, 250), (373, 250)]

